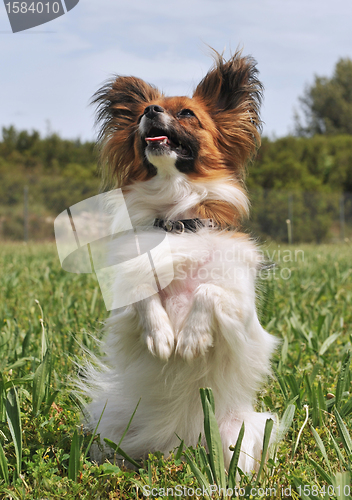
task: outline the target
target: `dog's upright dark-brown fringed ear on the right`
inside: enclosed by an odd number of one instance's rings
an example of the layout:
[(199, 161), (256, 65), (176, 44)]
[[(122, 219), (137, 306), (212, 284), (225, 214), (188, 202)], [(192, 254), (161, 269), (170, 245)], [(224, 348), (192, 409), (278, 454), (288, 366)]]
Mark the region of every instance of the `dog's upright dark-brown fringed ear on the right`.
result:
[(227, 163), (242, 171), (260, 144), (263, 87), (257, 78), (254, 59), (237, 52), (226, 61), (214, 52), (215, 65), (199, 83), (193, 97), (207, 108), (216, 123)]

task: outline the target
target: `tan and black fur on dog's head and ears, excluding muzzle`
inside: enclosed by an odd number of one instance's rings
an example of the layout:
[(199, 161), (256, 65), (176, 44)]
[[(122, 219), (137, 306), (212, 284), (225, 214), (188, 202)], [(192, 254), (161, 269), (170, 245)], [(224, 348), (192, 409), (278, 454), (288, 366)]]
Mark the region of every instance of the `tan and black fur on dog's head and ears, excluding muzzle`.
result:
[[(135, 77), (118, 76), (94, 96), (101, 124), (101, 163), (114, 186), (144, 181), (157, 174), (145, 161), (139, 122), (149, 105), (162, 107), (174, 128), (194, 136), (199, 151), (190, 180), (231, 176), (241, 183), (247, 161), (260, 144), (259, 107), (262, 86), (255, 61), (236, 52), (228, 61), (214, 51), (215, 64), (196, 87), (193, 97), (165, 97), (154, 86)], [(195, 119), (180, 120), (189, 108)]]

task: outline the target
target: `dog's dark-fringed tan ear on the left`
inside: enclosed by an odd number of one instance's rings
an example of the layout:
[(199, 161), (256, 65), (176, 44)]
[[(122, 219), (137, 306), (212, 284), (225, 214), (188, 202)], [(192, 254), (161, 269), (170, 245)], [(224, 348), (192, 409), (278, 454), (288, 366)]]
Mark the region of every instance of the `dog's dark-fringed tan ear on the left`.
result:
[(144, 109), (159, 97), (157, 88), (132, 76), (114, 78), (94, 94), (92, 104), (97, 106), (100, 163), (106, 185), (123, 186), (145, 173), (138, 159), (135, 132)]

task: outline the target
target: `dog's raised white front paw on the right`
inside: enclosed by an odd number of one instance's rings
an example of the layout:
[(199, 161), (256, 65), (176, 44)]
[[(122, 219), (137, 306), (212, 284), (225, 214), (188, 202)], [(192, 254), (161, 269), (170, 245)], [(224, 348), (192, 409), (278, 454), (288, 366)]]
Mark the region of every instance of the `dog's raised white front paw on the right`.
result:
[(213, 336), (206, 325), (197, 321), (197, 318), (188, 318), (186, 324), (178, 334), (176, 353), (186, 361), (203, 356), (213, 345)]

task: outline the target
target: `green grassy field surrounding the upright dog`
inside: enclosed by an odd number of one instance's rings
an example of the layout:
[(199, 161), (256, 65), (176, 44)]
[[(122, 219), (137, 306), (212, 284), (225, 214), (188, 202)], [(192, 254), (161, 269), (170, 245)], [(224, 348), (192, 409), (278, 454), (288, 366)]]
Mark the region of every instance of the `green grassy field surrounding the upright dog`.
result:
[[(256, 476), (235, 474), (235, 460), (224, 474), (216, 449), (209, 457), (201, 447), (183, 450), (182, 443), (171, 459), (150, 456), (139, 472), (127, 461), (122, 468), (90, 462), (93, 436), (83, 432), (82, 400), (70, 377), (84, 357), (82, 346), (99, 352), (107, 313), (97, 281), (62, 271), (52, 244), (3, 244), (0, 498), (144, 498), (143, 487), (154, 498), (177, 497), (172, 491), (206, 498), (192, 492), (214, 484), (227, 493), (236, 487), (240, 498), (352, 498), (352, 247), (271, 244), (263, 252), (277, 266), (259, 280), (258, 310), (282, 342), (258, 411), (279, 415), (282, 439)], [(206, 395), (205, 432), (216, 448)]]

